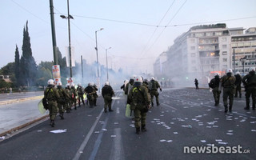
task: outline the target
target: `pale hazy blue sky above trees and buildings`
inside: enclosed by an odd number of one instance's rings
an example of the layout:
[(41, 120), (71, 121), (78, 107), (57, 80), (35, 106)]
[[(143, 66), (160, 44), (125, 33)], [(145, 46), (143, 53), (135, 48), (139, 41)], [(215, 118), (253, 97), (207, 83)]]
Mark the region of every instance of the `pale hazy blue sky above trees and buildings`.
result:
[[(71, 46), (81, 55), (118, 70), (152, 72), (159, 54), (191, 26), (226, 22), (227, 27), (256, 26), (255, 0), (70, 0)], [(53, 61), (49, 0), (1, 0), (0, 67), (14, 62), (15, 46), (22, 55), (23, 27), (28, 21), (34, 59)], [(67, 1), (54, 0), (56, 40), (62, 56), (68, 46)]]

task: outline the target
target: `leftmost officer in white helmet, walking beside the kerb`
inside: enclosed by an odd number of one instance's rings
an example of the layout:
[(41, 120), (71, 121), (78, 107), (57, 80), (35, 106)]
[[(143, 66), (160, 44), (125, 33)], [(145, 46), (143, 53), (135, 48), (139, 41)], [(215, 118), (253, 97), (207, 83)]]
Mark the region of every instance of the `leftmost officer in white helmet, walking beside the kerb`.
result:
[(49, 116), (50, 116), (50, 126), (54, 127), (54, 119), (58, 112), (58, 106), (57, 101), (59, 98), (58, 91), (56, 88), (54, 88), (54, 80), (49, 79), (48, 80), (48, 86), (46, 87), (46, 90), (44, 91), (44, 98), (46, 98), (48, 102), (48, 110), (49, 110)]

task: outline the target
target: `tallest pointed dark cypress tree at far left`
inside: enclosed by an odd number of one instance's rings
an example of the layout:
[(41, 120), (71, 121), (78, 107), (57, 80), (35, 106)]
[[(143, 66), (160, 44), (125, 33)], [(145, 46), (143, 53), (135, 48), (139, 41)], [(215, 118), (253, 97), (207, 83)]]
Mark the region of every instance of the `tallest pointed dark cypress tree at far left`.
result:
[(22, 86), (34, 86), (36, 83), (37, 64), (32, 56), (28, 22), (23, 29), (22, 58), (20, 60), (20, 83)]

